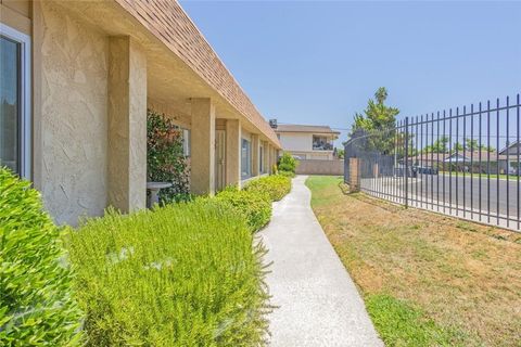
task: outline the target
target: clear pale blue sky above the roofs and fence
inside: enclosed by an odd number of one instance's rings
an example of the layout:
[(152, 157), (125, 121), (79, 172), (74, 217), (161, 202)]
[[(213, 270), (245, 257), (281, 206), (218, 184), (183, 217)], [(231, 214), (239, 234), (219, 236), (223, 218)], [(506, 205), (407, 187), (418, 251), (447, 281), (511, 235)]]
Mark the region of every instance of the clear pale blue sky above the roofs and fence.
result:
[(181, 5), (279, 123), (350, 128), (378, 87), (398, 118), (521, 92), (521, 2)]

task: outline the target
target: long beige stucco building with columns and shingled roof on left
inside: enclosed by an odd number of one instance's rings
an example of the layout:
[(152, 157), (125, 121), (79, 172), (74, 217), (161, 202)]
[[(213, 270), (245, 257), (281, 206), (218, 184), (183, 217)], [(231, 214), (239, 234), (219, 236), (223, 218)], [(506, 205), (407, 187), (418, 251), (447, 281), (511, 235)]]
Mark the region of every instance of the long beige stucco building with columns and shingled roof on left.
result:
[(276, 163), (276, 133), (177, 2), (0, 0), (0, 162), (56, 222), (145, 206), (147, 108), (189, 139), (193, 193)]

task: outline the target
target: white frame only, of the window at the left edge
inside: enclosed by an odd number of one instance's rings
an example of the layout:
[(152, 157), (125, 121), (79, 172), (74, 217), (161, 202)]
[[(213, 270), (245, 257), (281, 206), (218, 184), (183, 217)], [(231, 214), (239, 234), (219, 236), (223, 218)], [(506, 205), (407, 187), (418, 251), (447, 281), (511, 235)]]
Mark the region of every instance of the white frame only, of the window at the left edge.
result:
[(31, 178), (31, 87), (30, 87), (30, 36), (0, 23), (0, 34), (21, 46), (21, 163), (18, 175), (30, 180)]

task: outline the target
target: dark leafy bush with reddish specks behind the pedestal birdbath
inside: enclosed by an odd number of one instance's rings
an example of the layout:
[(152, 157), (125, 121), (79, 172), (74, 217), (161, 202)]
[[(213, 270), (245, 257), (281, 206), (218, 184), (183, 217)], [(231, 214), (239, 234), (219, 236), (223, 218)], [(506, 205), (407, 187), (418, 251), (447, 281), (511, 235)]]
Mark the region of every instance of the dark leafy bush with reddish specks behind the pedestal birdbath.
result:
[(171, 119), (148, 110), (147, 177), (150, 181), (173, 183), (160, 191), (163, 204), (190, 200), (190, 172), (182, 141), (182, 132)]

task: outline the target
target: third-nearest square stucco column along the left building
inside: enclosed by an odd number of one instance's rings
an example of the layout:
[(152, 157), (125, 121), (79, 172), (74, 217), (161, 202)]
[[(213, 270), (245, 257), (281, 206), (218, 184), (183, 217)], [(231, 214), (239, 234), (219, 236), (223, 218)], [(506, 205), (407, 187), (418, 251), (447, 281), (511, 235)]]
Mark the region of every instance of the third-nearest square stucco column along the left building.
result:
[(226, 121), (226, 184), (241, 187), (241, 121)]

